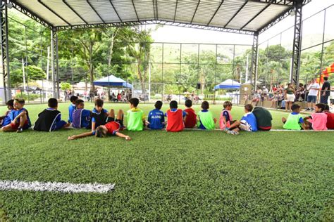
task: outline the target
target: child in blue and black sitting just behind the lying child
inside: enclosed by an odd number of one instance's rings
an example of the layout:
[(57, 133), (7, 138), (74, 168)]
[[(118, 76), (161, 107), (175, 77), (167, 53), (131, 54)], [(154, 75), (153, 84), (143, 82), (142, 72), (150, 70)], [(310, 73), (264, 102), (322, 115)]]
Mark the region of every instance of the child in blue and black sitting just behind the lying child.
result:
[[(109, 112), (103, 108), (104, 101), (100, 98), (97, 98), (94, 101), (95, 107), (92, 110), (91, 118), (89, 121), (89, 126), (87, 126), (87, 129), (96, 129), (97, 127), (106, 124), (107, 117), (109, 116)], [(123, 120), (123, 119), (122, 119)]]

